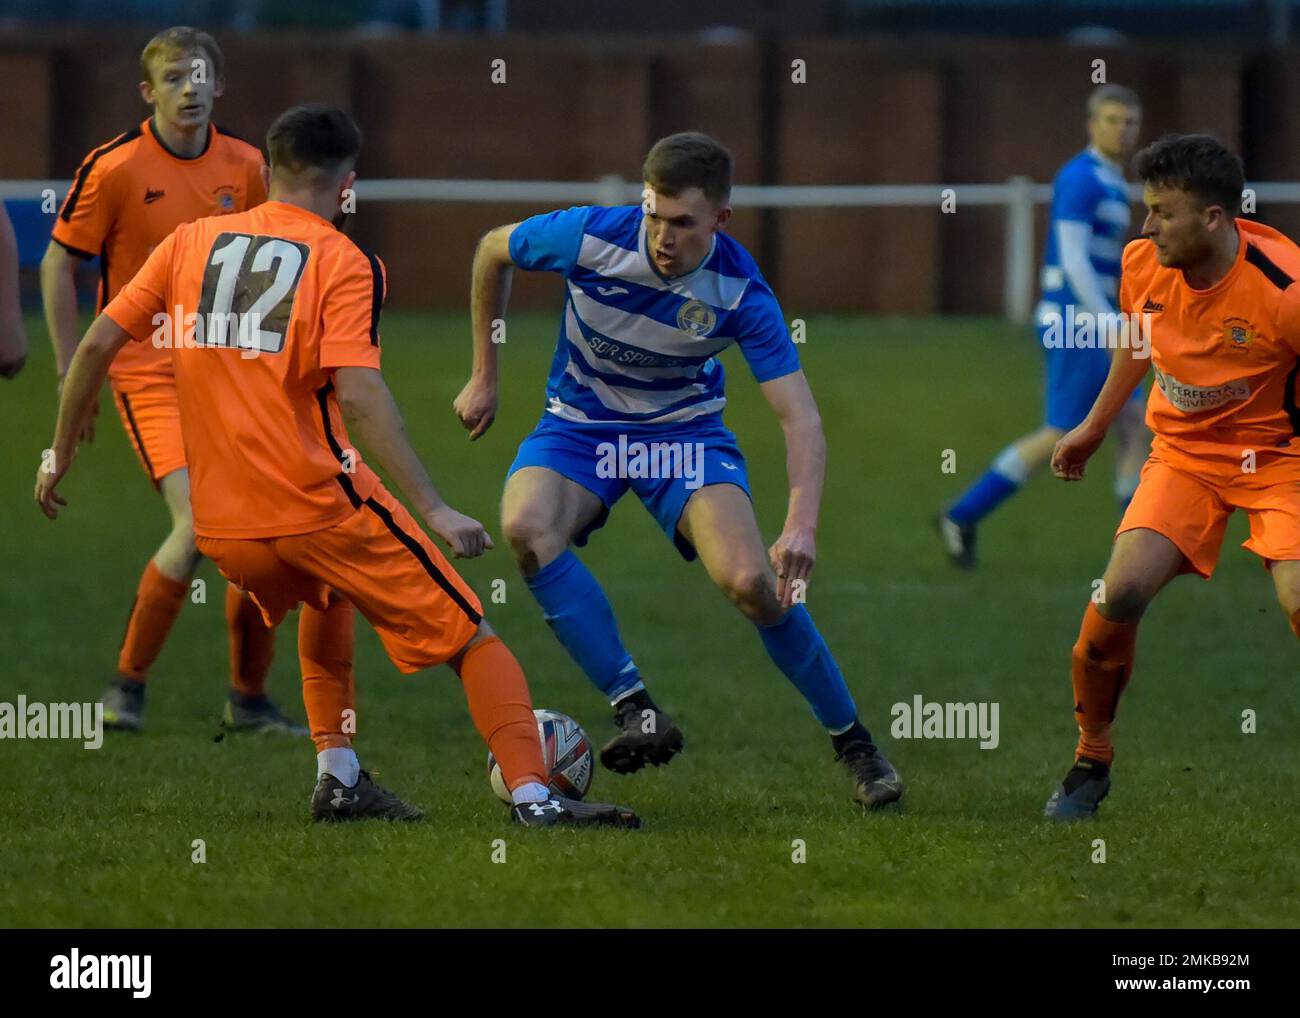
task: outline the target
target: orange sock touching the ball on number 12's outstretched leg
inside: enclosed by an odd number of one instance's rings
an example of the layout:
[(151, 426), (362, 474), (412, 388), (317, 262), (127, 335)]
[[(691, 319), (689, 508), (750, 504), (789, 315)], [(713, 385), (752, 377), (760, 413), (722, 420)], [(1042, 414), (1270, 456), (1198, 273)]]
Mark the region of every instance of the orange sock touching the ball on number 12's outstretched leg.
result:
[(514, 790), (528, 781), (547, 784), (528, 680), (510, 647), (500, 637), (489, 636), (462, 655), (458, 672), (469, 716), (500, 764), (506, 788)]

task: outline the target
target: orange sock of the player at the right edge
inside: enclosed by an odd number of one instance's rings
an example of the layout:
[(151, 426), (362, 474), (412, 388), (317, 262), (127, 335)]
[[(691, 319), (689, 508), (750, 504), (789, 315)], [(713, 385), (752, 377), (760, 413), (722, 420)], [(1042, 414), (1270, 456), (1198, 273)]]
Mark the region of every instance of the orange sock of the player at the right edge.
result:
[(1110, 764), (1115, 750), (1110, 725), (1119, 694), (1128, 685), (1138, 646), (1138, 623), (1113, 623), (1089, 603), (1071, 654), (1074, 719), (1079, 724), (1075, 759), (1088, 757)]

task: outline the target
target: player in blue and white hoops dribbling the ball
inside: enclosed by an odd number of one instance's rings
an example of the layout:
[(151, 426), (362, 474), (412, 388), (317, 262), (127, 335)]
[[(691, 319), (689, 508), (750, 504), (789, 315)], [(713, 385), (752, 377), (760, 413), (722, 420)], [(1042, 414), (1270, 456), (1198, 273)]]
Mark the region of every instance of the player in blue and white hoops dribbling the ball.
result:
[[(495, 415), (491, 333), (506, 313), (511, 267), (560, 273), (566, 302), (546, 407), (510, 468), (502, 527), (552, 632), (615, 707), (620, 732), (602, 763), (627, 774), (667, 763), (682, 745), (623, 646), (604, 592), (569, 547), (585, 545), (630, 489), (758, 628), (831, 733), (858, 801), (881, 806), (902, 794), (898, 772), (858, 720), (802, 603), (826, 476), (822, 421), (776, 298), (723, 231), (731, 169), (712, 138), (670, 135), (646, 156), (642, 205), (569, 208), (491, 230), (474, 256), (474, 364), (456, 413), (471, 438)], [(732, 343), (785, 432), (789, 510), (767, 550), (745, 458), (722, 421), (716, 355)]]

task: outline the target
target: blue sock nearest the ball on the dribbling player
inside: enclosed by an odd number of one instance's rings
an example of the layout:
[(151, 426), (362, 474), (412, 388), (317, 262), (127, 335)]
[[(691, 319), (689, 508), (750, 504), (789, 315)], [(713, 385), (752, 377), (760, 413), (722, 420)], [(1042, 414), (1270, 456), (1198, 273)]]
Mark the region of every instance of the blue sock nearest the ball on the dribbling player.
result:
[(586, 677), (614, 699), (641, 686), (641, 673), (619, 638), (614, 608), (582, 560), (567, 550), (525, 576), (542, 618)]

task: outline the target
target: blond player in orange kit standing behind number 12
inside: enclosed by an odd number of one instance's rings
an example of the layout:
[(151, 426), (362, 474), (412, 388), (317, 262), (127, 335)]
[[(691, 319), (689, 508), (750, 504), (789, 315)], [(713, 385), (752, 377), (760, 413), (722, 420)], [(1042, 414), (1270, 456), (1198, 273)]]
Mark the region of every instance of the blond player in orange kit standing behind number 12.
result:
[[(159, 34), (144, 47), (140, 74), (140, 96), (153, 114), (86, 156), (42, 263), (60, 385), (77, 347), (73, 274), (78, 259), (99, 255), (96, 309), (103, 311), (178, 225), (243, 212), (266, 198), (261, 152), (209, 121), (213, 100), (224, 88), (222, 55), (211, 35), (186, 27)], [(131, 343), (113, 361), (109, 380), (122, 426), (172, 515), (172, 530), (140, 577), (117, 675), (101, 697), (105, 724), (134, 729), (142, 723), (148, 670), (181, 611), (199, 556), (168, 351)], [(82, 437), (94, 438), (94, 417)], [(224, 723), (237, 729), (300, 732), (265, 694), (274, 633), (234, 588), (226, 590), (225, 615), (231, 688)]]

